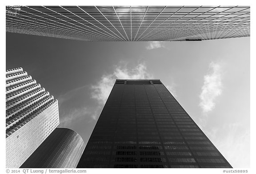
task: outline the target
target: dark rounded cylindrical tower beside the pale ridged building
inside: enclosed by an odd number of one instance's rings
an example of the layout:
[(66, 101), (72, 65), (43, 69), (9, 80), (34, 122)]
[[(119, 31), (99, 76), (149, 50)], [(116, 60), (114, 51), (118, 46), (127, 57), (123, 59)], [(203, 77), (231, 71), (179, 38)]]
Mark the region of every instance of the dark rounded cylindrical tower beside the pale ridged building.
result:
[(20, 168), (76, 168), (84, 147), (78, 133), (56, 128)]

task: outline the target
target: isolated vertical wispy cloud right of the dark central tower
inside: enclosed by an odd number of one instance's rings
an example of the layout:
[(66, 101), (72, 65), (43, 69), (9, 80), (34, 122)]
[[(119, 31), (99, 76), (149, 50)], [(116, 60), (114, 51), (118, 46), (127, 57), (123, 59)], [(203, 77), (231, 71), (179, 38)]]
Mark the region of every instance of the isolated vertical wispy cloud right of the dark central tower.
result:
[(211, 62), (209, 65), (209, 73), (204, 76), (204, 85), (200, 94), (200, 107), (203, 112), (212, 111), (215, 108), (216, 97), (222, 93), (222, 74), (221, 66)]

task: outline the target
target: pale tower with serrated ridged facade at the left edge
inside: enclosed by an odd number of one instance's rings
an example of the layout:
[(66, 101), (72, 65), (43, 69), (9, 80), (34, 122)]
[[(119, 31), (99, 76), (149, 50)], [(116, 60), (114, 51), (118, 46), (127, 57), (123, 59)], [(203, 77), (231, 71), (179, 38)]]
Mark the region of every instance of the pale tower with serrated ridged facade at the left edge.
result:
[(22, 68), (6, 70), (6, 168), (18, 168), (59, 124), (58, 101)]

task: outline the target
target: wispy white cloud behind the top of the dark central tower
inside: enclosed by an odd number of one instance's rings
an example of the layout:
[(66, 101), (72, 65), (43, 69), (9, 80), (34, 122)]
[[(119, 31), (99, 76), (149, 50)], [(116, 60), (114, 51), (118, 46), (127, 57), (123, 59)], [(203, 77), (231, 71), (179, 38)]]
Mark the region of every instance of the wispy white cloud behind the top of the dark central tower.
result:
[(92, 85), (92, 98), (104, 105), (108, 99), (109, 93), (116, 79), (152, 79), (147, 72), (144, 63), (140, 63), (134, 69), (128, 69), (126, 66), (116, 66), (112, 73), (104, 74), (96, 85)]

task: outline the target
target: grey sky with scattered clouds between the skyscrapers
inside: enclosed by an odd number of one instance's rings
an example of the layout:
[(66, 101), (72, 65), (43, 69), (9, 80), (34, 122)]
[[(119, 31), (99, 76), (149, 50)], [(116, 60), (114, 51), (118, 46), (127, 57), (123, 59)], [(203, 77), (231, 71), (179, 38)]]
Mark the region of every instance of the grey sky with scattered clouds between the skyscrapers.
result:
[(160, 79), (234, 168), (250, 167), (250, 37), (201, 42), (84, 42), (6, 33), (22, 67), (59, 102), (59, 128), (84, 143), (116, 79)]

